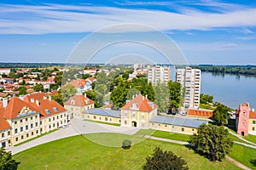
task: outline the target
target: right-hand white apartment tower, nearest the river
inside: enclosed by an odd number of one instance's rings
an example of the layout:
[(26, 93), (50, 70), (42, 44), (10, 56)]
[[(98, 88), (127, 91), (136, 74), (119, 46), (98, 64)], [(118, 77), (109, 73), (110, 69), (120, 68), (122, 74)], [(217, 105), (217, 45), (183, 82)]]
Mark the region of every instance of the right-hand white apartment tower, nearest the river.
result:
[(183, 106), (185, 108), (198, 108), (200, 105), (201, 70), (185, 67), (177, 69), (176, 82), (185, 88)]

